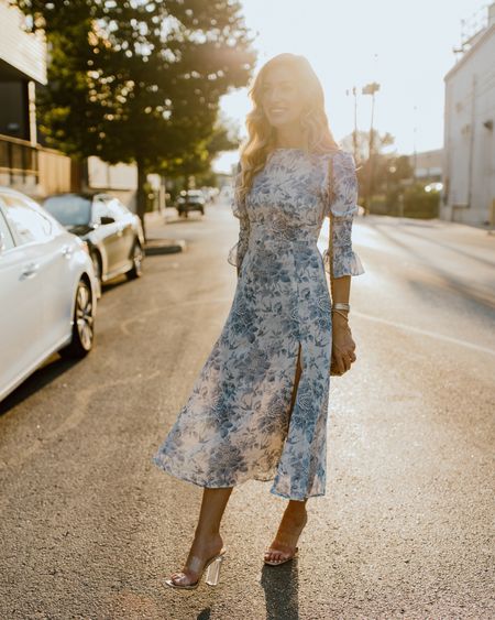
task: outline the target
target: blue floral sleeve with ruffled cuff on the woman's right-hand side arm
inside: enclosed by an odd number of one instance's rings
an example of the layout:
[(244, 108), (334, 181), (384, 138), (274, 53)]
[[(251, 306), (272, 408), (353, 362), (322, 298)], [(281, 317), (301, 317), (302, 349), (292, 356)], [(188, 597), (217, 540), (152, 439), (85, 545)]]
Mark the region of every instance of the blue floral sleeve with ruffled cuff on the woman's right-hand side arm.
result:
[[(364, 267), (352, 249), (352, 224), (358, 207), (358, 176), (354, 157), (345, 151), (333, 156), (333, 192), (330, 191), (330, 166), (324, 178), (324, 216), (332, 216), (333, 278), (361, 275)], [(323, 252), (324, 271), (330, 274), (329, 249)]]

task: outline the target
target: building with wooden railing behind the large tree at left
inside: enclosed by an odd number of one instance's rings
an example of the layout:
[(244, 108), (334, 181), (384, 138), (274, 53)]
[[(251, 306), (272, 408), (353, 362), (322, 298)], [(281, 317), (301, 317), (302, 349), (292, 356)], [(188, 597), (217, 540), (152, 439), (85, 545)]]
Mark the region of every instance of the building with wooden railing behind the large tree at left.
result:
[[(24, 24), (23, 13), (0, 0), (0, 185), (36, 199), (58, 192), (105, 191), (135, 211), (135, 165), (110, 165), (96, 156), (78, 163), (44, 145), (36, 127), (36, 90), (47, 84), (46, 43), (41, 32), (28, 32)], [(150, 174), (147, 181), (154, 208), (163, 208), (163, 178)]]

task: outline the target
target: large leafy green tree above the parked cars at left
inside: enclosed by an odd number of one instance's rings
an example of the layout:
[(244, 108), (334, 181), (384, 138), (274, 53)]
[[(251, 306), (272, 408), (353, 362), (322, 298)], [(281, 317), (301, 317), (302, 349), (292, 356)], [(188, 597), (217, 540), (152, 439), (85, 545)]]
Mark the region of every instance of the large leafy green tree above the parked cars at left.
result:
[(47, 142), (67, 154), (135, 162), (144, 227), (148, 172), (206, 165), (220, 97), (246, 84), (255, 53), (238, 1), (19, 0), (46, 33)]

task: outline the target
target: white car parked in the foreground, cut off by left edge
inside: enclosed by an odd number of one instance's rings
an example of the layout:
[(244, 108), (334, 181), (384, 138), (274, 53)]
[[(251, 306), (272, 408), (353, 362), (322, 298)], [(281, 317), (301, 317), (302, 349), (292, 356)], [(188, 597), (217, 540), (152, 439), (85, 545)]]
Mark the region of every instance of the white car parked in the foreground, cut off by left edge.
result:
[(97, 292), (87, 244), (0, 186), (0, 401), (53, 352), (91, 350)]

